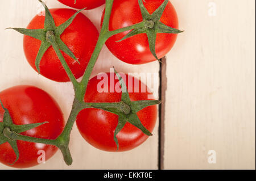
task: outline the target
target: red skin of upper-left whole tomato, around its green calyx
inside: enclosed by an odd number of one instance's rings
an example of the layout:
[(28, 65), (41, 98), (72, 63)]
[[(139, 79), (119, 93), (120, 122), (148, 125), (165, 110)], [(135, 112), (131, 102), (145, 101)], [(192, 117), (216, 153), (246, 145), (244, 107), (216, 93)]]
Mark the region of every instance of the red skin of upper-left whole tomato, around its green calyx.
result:
[[(66, 22), (75, 10), (71, 9), (51, 9), (50, 10), (56, 26)], [(44, 28), (44, 15), (36, 15), (34, 19), (28, 24), (28, 29)], [(96, 27), (88, 18), (83, 14), (78, 14), (73, 20), (72, 24), (60, 36), (61, 40), (68, 46), (69, 49), (75, 54), (81, 64), (73, 60), (67, 54), (63, 53), (69, 68), (71, 68), (76, 78), (79, 78), (84, 73), (86, 66), (92, 56), (92, 52), (96, 46), (98, 39), (98, 31)], [(35, 60), (40, 48), (41, 41), (36, 40), (30, 36), (24, 36), (23, 48), (29, 64), (36, 70)], [(37, 71), (37, 70), (36, 70)], [(52, 47), (44, 54), (40, 62), (41, 74), (53, 81), (68, 82), (69, 78), (59, 58)]]

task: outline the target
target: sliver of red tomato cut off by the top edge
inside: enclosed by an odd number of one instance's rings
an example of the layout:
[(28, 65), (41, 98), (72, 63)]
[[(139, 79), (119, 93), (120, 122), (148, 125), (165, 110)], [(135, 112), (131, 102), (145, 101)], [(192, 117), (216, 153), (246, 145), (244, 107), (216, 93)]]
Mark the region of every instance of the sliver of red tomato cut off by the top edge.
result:
[(83, 9), (86, 7), (86, 10), (91, 10), (96, 7), (99, 7), (105, 3), (105, 0), (58, 0), (59, 2), (67, 5), (69, 7), (73, 7), (76, 9)]

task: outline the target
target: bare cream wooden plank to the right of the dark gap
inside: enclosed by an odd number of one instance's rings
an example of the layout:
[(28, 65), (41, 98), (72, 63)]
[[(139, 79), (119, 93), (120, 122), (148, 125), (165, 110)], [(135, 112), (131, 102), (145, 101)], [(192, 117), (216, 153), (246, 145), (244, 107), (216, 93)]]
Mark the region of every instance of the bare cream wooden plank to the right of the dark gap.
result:
[(185, 32), (167, 56), (164, 168), (255, 169), (255, 1), (171, 2)]

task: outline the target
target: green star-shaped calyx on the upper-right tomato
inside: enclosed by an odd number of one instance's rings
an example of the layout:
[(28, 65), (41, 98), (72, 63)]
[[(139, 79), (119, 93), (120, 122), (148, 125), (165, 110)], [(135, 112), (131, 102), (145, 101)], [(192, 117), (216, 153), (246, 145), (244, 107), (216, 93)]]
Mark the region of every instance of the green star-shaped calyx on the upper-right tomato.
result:
[[(148, 43), (150, 47), (150, 51), (152, 55), (156, 58), (156, 60), (160, 61), (158, 56), (156, 55), (156, 35), (158, 33), (181, 33), (183, 31), (177, 30), (172, 27), (168, 27), (166, 24), (160, 22), (160, 19), (163, 15), (164, 9), (166, 9), (168, 0), (165, 0), (162, 5), (158, 7), (152, 14), (150, 14), (146, 7), (143, 5), (143, 0), (139, 0), (139, 7), (141, 9), (141, 14), (144, 22), (144, 27), (135, 28), (133, 31), (129, 32), (125, 37), (123, 37), (119, 41), (123, 41), (128, 39), (131, 36), (139, 35), (141, 33), (146, 33), (148, 37)], [(117, 42), (119, 42), (117, 41)]]

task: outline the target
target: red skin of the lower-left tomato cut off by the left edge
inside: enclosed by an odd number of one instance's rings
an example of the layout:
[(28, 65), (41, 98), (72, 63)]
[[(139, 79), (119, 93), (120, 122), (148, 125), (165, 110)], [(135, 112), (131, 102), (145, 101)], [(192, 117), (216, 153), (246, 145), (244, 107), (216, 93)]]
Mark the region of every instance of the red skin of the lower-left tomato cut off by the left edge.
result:
[[(3, 105), (9, 110), (13, 123), (17, 125), (42, 123), (40, 127), (31, 129), (20, 134), (45, 138), (57, 138), (64, 128), (63, 113), (58, 104), (47, 92), (33, 86), (16, 86), (0, 92), (0, 99)], [(0, 121), (3, 121), (3, 109), (0, 108)], [(57, 151), (52, 145), (37, 144), (34, 142), (17, 141), (19, 159), (16, 159), (14, 150), (9, 143), (0, 145), (0, 162), (16, 168), (27, 168), (38, 165), (39, 150), (44, 150), (46, 160), (51, 158)]]

